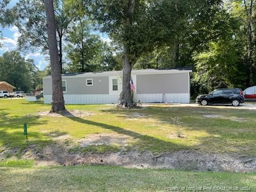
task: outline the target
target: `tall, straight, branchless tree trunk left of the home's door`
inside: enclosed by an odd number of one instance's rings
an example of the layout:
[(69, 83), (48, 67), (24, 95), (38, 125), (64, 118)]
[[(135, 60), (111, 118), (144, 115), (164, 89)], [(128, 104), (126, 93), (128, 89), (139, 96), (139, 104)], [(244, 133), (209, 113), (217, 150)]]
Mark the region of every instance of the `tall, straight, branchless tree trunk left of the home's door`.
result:
[(61, 67), (59, 62), (59, 54), (57, 49), (57, 39), (55, 30), (55, 19), (53, 0), (45, 0), (45, 13), (47, 21), (47, 34), (48, 44), (51, 61), (51, 73), (52, 73), (52, 113), (59, 113), (65, 109), (62, 81), (61, 81)]

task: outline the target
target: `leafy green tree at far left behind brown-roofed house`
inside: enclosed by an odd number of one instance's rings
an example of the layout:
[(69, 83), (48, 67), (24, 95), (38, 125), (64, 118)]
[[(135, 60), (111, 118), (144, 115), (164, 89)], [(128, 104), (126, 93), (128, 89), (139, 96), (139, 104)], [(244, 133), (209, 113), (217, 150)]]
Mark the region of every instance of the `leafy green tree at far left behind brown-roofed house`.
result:
[(33, 60), (25, 60), (18, 51), (5, 52), (0, 57), (0, 79), (25, 92), (31, 91), (38, 83)]

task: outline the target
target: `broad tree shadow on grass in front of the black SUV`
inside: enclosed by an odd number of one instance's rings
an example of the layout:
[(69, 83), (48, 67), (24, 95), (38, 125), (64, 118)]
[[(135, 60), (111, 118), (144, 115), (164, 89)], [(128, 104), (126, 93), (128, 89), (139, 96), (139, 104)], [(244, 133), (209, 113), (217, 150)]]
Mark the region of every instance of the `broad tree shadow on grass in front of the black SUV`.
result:
[[(107, 109), (101, 110), (103, 113), (117, 115), (126, 121), (129, 119), (155, 119), (159, 124), (169, 124), (174, 126), (172, 118), (178, 118), (182, 131), (194, 132), (194, 135), (185, 135), (186, 138), (193, 136), (198, 140), (195, 145), (190, 145), (192, 149), (202, 149), (203, 151), (217, 151), (220, 153), (236, 152), (241, 154), (256, 154), (253, 150), (256, 126), (255, 122), (247, 120), (239, 122), (240, 115), (243, 118), (252, 118), (256, 111), (241, 109), (219, 109), (212, 107), (166, 107), (152, 106), (143, 110)], [(217, 114), (223, 118), (206, 118), (203, 115)], [(231, 117), (237, 118), (233, 121)], [(135, 120), (134, 120), (135, 121)], [(198, 131), (198, 135), (195, 135)], [(199, 135), (202, 133), (204, 135)], [(209, 134), (208, 136), (205, 135)], [(207, 150), (207, 147), (209, 150)]]

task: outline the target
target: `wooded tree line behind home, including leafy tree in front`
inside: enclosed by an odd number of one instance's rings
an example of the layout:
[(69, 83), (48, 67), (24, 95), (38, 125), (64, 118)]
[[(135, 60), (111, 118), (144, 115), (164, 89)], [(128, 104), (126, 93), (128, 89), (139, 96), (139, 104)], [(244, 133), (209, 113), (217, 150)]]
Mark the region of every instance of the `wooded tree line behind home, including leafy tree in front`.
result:
[[(192, 94), (256, 83), (253, 0), (53, 3), (62, 73), (123, 69), (121, 101), (126, 106), (131, 105), (131, 69), (190, 67)], [(20, 0), (11, 15), (18, 18), (12, 23), (21, 34), (19, 50), (47, 53), (44, 1)], [(111, 42), (103, 41), (101, 33)]]

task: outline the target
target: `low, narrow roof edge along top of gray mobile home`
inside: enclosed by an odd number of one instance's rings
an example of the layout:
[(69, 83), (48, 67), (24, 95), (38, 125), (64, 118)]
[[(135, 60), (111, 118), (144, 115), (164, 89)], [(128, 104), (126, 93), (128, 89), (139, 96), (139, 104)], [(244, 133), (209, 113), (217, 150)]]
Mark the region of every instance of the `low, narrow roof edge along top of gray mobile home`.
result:
[[(132, 75), (139, 74), (175, 74), (175, 73), (191, 73), (192, 70), (188, 68), (175, 68), (175, 69), (139, 69), (132, 70)], [(87, 72), (87, 73), (68, 73), (62, 74), (62, 77), (90, 77), (90, 76), (114, 76), (122, 75), (122, 71), (101, 71), (101, 72)], [(51, 76), (46, 76), (44, 78), (50, 78)]]

